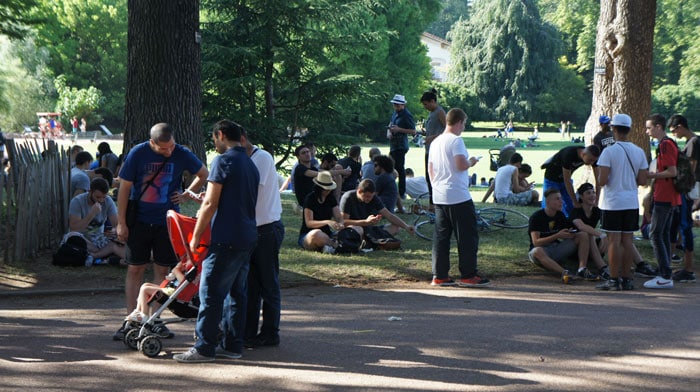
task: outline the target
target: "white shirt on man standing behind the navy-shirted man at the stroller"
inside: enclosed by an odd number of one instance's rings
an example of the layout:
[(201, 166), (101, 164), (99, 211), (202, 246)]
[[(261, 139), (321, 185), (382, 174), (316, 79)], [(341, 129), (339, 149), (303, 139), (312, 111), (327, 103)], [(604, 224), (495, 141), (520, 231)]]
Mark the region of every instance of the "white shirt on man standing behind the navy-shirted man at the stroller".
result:
[(269, 152), (257, 147), (253, 147), (253, 155), (250, 156), (250, 159), (260, 173), (258, 201), (255, 204), (256, 224), (257, 226), (262, 226), (276, 222), (282, 216), (282, 201), (277, 182), (275, 161)]

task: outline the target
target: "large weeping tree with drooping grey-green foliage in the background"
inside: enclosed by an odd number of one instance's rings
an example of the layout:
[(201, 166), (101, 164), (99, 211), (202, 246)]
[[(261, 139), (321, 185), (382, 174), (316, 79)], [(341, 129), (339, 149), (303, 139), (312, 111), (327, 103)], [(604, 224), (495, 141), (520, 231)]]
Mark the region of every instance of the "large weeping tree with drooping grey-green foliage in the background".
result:
[(528, 118), (556, 75), (556, 30), (532, 0), (477, 0), (473, 10), (449, 34), (451, 81), (472, 88), (492, 118)]

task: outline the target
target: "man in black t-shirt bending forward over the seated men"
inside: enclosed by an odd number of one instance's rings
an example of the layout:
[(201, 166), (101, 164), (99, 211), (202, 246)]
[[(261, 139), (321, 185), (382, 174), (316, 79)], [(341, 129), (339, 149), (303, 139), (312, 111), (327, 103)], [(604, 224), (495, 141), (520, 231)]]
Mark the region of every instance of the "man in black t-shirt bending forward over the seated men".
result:
[[(574, 207), (579, 207), (571, 180), (571, 174), (583, 165), (594, 165), (600, 156), (600, 149), (595, 145), (564, 147), (542, 164), (544, 169), (544, 184), (542, 192), (548, 189), (558, 189), (564, 203), (563, 212), (569, 216)], [(545, 208), (542, 199), (542, 208)]]

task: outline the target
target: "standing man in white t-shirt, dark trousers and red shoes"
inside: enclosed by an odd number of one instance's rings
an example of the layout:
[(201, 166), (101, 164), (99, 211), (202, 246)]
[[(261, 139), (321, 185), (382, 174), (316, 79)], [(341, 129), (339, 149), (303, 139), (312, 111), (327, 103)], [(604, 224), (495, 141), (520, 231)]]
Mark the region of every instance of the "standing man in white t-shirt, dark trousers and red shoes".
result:
[[(480, 287), (489, 280), (477, 274), (476, 255), (479, 250), (479, 231), (474, 202), (469, 193), (469, 168), (478, 159), (469, 158), (461, 138), (467, 115), (461, 109), (447, 113), (445, 131), (430, 145), (428, 174), (433, 185), (435, 205), (435, 235), (433, 238), (433, 286)], [(450, 279), (450, 240), (457, 238), (459, 271), (455, 283)]]

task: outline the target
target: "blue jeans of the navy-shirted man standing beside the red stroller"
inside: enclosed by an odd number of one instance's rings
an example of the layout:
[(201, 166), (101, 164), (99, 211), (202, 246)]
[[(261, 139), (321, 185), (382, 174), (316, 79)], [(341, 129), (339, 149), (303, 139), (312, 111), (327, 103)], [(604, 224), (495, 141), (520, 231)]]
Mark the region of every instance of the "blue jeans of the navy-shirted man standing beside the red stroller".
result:
[(224, 336), (221, 346), (232, 352), (243, 351), (243, 330), (247, 299), (248, 262), (252, 249), (234, 249), (228, 244), (212, 244), (202, 262), (199, 281), (197, 342), (201, 355), (213, 357), (219, 344), (219, 325)]

